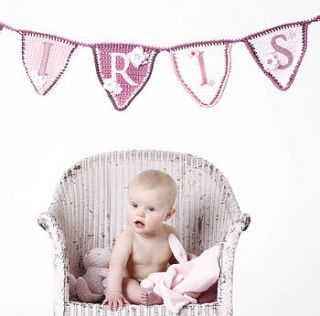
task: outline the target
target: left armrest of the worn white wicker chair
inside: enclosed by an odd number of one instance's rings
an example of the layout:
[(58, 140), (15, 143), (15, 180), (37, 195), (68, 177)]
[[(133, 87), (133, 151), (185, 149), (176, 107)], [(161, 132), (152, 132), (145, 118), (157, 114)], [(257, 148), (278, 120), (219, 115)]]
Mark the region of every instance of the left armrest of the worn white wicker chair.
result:
[(56, 217), (50, 212), (42, 213), (38, 218), (38, 224), (52, 240), (55, 278), (54, 315), (64, 315), (65, 303), (69, 301), (67, 280), (69, 267), (65, 237)]

